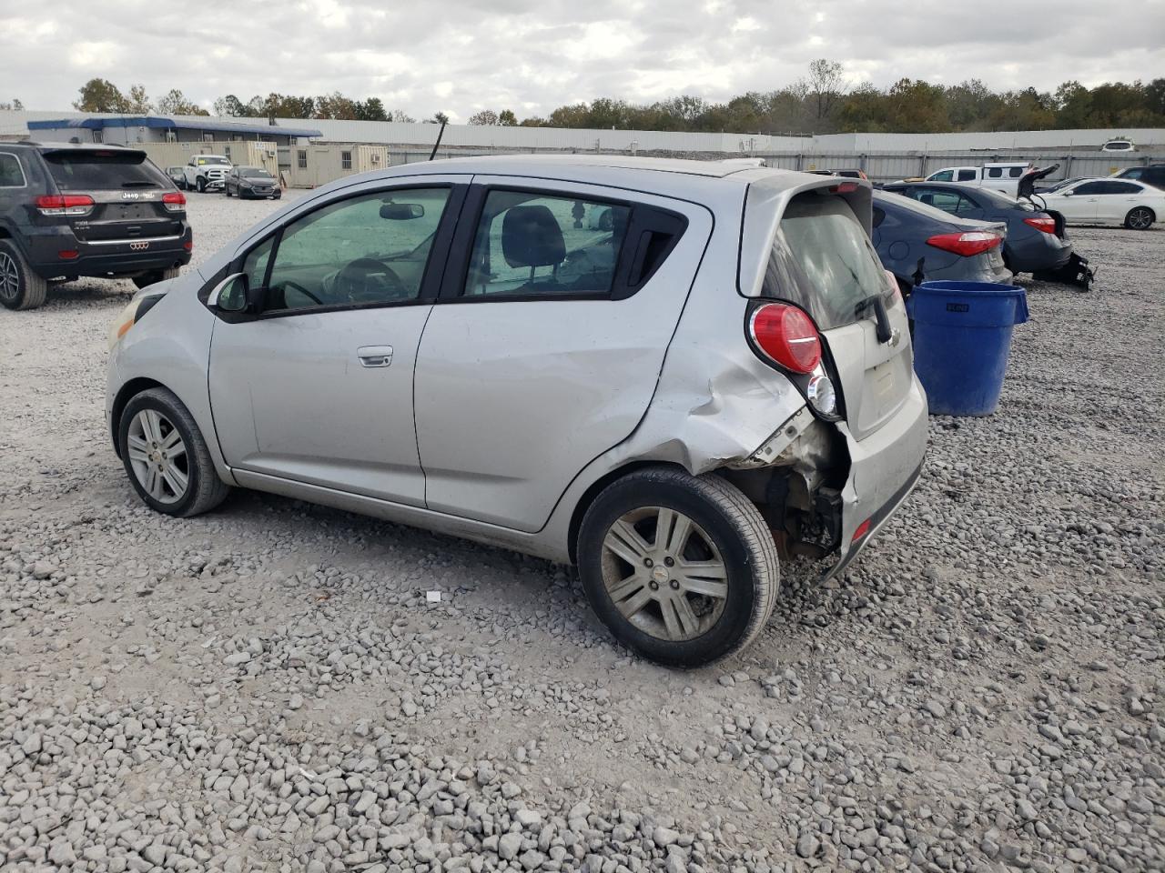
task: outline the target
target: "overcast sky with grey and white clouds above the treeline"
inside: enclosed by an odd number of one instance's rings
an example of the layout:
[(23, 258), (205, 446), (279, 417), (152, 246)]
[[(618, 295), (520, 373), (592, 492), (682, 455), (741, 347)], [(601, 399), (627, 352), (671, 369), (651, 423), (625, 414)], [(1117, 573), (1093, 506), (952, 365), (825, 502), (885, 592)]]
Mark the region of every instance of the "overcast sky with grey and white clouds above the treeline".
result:
[[(1165, 76), (1165, 0), (0, 0), (0, 100), (66, 109), (86, 79), (210, 108), (234, 93), (341, 91), (416, 118), (544, 114), (595, 97), (722, 100), (813, 58), (854, 83), (996, 90)], [(1130, 20), (1132, 15), (1136, 21)]]

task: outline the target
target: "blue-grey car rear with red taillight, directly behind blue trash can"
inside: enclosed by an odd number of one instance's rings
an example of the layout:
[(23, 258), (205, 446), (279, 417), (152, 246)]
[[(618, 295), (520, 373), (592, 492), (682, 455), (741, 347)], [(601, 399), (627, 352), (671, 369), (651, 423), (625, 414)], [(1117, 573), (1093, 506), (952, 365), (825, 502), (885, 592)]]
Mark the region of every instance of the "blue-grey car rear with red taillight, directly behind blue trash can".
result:
[(902, 194), (874, 192), (874, 246), (904, 294), (920, 282), (1011, 281), (1003, 263), (1008, 226), (949, 215)]

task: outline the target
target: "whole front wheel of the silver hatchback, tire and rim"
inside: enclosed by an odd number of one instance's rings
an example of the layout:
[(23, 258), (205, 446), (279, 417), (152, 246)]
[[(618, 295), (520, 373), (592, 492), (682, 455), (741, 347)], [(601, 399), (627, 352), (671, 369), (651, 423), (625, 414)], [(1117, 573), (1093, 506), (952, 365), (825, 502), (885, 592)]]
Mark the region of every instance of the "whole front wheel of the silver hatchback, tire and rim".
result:
[(129, 482), (156, 512), (197, 516), (231, 491), (190, 411), (164, 388), (142, 391), (126, 404), (118, 445)]

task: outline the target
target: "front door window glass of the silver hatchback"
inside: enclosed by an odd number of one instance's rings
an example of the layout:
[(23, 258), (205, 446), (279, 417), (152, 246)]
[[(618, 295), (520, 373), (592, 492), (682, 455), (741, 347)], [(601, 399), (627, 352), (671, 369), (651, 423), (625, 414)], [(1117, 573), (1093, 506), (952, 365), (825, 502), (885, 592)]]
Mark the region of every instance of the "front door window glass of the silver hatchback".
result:
[[(381, 191), (333, 203), (289, 225), (275, 251), (266, 308), (417, 299), (447, 199), (444, 187)], [(248, 274), (260, 270), (260, 249), (252, 253), (257, 255)]]

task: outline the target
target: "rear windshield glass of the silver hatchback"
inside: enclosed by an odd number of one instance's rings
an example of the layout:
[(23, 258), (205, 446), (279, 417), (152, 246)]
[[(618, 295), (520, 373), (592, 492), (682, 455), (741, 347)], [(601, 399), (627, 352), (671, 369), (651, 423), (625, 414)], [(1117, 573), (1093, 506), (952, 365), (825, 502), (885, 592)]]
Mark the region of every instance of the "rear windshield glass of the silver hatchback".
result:
[(764, 274), (764, 296), (804, 308), (824, 331), (856, 321), (857, 304), (891, 291), (853, 210), (840, 197), (795, 197)]

